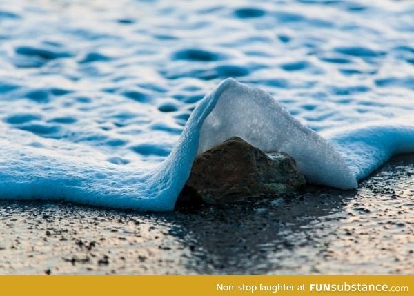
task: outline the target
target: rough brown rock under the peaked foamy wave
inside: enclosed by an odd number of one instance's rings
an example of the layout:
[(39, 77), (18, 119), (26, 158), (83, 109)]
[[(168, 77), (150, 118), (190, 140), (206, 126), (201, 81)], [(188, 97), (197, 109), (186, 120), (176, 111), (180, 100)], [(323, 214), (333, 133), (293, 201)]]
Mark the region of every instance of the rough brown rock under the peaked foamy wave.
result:
[(198, 155), (177, 204), (246, 200), (255, 195), (293, 193), (305, 178), (284, 152), (264, 153), (239, 137)]

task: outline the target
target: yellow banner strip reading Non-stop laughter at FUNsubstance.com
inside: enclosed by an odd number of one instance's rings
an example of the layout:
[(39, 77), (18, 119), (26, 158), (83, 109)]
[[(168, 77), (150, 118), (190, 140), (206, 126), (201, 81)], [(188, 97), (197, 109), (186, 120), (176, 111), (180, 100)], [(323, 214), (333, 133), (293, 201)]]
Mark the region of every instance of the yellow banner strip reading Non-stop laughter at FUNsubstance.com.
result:
[(0, 276), (1, 295), (414, 295), (414, 276)]

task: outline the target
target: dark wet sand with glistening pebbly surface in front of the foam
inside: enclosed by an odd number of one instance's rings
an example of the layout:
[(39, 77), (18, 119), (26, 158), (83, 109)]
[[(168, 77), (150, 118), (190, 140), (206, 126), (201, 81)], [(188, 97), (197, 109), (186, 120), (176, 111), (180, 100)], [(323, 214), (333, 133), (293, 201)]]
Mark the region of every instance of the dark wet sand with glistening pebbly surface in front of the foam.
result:
[(358, 190), (163, 214), (0, 201), (1, 274), (413, 274), (414, 155)]

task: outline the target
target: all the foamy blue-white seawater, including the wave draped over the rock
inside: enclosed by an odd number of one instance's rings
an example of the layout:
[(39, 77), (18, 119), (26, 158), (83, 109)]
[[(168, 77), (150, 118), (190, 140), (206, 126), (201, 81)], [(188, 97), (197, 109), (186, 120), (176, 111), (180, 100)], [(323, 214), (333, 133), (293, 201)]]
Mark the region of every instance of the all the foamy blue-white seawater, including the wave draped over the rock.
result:
[(172, 210), (231, 136), (357, 188), (414, 152), (412, 1), (0, 2), (0, 199)]

